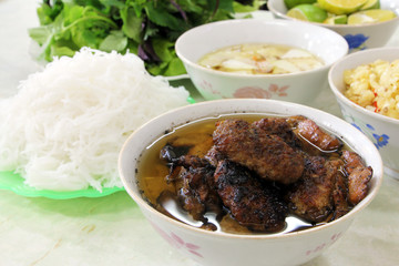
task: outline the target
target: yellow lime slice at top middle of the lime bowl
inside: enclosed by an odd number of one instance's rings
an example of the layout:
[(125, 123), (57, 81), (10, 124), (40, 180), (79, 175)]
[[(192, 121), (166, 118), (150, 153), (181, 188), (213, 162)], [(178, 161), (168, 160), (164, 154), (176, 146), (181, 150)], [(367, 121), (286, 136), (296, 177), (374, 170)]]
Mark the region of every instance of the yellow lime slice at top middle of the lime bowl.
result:
[(368, 0), (317, 0), (320, 8), (335, 14), (348, 14), (359, 10)]

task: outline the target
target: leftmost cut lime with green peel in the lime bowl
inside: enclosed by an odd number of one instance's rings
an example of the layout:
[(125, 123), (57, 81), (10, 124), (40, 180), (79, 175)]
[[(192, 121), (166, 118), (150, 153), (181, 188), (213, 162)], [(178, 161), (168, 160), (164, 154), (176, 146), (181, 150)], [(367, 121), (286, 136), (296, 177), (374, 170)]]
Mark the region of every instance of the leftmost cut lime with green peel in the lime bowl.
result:
[(288, 10), (287, 16), (298, 20), (323, 22), (327, 19), (327, 11), (311, 3), (303, 3)]

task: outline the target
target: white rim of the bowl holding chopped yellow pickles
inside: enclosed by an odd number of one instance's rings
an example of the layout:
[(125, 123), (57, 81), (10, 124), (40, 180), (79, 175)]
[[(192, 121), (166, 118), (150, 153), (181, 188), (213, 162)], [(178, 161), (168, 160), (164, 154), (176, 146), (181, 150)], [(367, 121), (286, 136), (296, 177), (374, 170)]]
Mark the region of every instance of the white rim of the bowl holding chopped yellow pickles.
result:
[[(332, 93), (336, 95), (336, 98), (338, 98), (346, 105), (352, 108), (357, 112), (369, 115), (369, 116), (371, 116), (371, 117), (374, 117), (376, 120), (381, 120), (383, 122), (388, 122), (388, 123), (391, 123), (391, 124), (399, 125), (399, 119), (393, 119), (393, 117), (390, 117), (390, 116), (387, 116), (387, 115), (383, 115), (383, 114), (371, 112), (370, 110), (367, 110), (366, 108), (362, 108), (362, 106), (354, 103), (347, 96), (345, 96), (344, 93), (332, 82), (332, 75), (334, 75), (335, 72), (337, 72), (338, 66), (345, 64), (348, 61), (351, 61), (354, 58), (360, 58), (360, 57), (365, 58), (365, 57), (367, 57), (367, 54), (370, 54), (370, 53), (371, 54), (378, 54), (379, 52), (385, 52), (385, 51), (390, 51), (390, 50), (399, 52), (399, 47), (370, 48), (370, 49), (367, 49), (367, 50), (358, 51), (356, 53), (350, 53), (347, 57), (338, 60), (335, 64), (332, 64), (332, 66), (328, 71), (327, 80), (328, 80), (329, 88), (332, 91)], [(370, 60), (370, 61), (368, 61), (368, 63), (372, 63), (374, 61), (376, 61), (376, 60)], [(360, 63), (360, 64), (358, 64), (358, 66), (361, 65), (361, 64), (366, 64), (366, 63)]]

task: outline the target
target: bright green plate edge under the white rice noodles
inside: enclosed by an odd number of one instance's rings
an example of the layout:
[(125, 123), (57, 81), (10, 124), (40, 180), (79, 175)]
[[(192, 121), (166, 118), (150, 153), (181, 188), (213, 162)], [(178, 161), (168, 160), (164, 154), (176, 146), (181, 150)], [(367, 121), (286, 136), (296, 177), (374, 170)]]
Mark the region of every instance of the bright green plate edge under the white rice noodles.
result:
[(124, 191), (124, 187), (104, 187), (102, 192), (90, 187), (88, 190), (80, 191), (48, 191), (37, 190), (24, 183), (24, 180), (13, 172), (0, 172), (0, 190), (12, 191), (18, 195), (28, 197), (48, 197), (53, 200), (68, 200), (75, 197), (102, 197), (108, 196), (112, 193)]

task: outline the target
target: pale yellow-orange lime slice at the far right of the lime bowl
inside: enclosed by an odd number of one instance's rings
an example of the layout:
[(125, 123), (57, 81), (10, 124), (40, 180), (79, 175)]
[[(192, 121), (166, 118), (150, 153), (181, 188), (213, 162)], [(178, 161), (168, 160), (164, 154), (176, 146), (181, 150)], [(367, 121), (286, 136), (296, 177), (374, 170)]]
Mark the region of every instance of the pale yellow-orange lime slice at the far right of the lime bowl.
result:
[(358, 11), (348, 17), (348, 24), (368, 24), (388, 21), (396, 18), (396, 13), (391, 10), (370, 9)]

